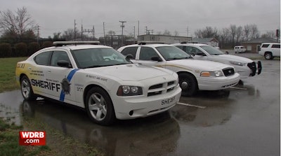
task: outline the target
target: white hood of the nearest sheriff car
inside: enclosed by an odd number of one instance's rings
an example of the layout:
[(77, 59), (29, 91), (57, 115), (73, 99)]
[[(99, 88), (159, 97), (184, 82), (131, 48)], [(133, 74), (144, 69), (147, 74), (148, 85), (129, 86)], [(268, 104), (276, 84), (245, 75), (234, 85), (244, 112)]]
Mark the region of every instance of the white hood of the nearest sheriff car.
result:
[(110, 76), (120, 80), (145, 80), (159, 76), (171, 76), (174, 72), (167, 69), (143, 66), (141, 64), (124, 64), (86, 69), (86, 72)]

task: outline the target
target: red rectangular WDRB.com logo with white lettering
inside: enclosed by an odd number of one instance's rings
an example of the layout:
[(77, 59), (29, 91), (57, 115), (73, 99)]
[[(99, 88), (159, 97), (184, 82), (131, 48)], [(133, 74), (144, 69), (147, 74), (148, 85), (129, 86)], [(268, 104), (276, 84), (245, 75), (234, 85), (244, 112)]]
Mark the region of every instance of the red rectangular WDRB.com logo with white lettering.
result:
[(39, 131), (20, 131), (20, 146), (45, 146), (46, 132)]

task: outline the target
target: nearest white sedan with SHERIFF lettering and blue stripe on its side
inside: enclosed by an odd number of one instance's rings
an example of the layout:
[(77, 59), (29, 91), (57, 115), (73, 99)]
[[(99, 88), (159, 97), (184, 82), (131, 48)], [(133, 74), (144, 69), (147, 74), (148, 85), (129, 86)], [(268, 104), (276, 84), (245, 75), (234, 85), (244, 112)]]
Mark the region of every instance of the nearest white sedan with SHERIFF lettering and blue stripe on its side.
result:
[(55, 42), (18, 62), (15, 75), (24, 99), (47, 97), (85, 108), (100, 125), (176, 105), (181, 97), (176, 73), (132, 64), (113, 48), (91, 43)]

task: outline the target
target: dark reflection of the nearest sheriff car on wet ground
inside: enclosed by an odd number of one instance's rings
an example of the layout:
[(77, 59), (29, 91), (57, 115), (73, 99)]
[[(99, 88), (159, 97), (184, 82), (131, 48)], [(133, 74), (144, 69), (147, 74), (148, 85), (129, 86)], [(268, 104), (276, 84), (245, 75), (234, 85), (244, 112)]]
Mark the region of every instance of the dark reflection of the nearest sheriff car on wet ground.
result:
[(164, 155), (175, 150), (180, 136), (178, 122), (168, 112), (103, 127), (93, 124), (84, 111), (49, 101), (23, 101), (22, 108), (24, 117), (39, 118), (79, 141), (103, 148), (107, 155)]

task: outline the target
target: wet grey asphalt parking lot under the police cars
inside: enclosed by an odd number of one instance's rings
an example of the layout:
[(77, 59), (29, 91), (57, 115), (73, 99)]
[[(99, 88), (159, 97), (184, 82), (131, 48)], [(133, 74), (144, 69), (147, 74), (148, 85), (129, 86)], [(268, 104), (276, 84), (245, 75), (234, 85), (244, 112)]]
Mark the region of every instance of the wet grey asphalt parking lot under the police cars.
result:
[(0, 117), (17, 125), (22, 116), (37, 118), (107, 155), (280, 155), (280, 60), (262, 64), (244, 85), (181, 97), (169, 112), (112, 127), (93, 124), (78, 108), (23, 101), (19, 90), (0, 94)]

